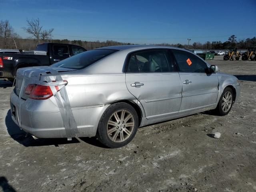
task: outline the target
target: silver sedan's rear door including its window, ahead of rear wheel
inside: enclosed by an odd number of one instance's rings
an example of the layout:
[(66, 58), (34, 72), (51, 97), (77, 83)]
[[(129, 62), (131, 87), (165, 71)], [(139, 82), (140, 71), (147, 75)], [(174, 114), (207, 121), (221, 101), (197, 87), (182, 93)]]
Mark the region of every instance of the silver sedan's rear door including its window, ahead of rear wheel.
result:
[(144, 50), (130, 54), (126, 86), (142, 104), (146, 118), (168, 119), (170, 115), (178, 114), (182, 85), (170, 60), (169, 50)]

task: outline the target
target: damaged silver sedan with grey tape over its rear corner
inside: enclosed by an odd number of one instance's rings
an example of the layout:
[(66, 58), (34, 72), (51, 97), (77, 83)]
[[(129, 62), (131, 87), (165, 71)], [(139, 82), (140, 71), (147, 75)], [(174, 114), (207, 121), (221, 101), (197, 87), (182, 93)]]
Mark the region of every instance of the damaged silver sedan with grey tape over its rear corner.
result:
[(141, 126), (206, 110), (226, 115), (239, 95), (236, 77), (188, 50), (130, 45), (21, 68), (10, 105), (14, 122), (35, 137), (97, 136), (118, 148)]

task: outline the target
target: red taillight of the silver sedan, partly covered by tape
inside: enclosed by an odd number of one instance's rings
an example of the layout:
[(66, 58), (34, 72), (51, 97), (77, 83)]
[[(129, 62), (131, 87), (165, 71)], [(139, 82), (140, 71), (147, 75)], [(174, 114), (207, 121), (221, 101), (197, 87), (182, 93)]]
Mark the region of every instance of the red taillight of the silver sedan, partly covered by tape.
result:
[[(64, 82), (66, 84), (68, 83), (67, 81)], [(57, 91), (60, 90), (59, 86), (55, 86), (55, 88)], [(28, 84), (28, 86), (25, 89), (25, 94), (29, 95), (30, 99), (37, 100), (48, 99), (53, 95), (50, 86), (37, 84)]]

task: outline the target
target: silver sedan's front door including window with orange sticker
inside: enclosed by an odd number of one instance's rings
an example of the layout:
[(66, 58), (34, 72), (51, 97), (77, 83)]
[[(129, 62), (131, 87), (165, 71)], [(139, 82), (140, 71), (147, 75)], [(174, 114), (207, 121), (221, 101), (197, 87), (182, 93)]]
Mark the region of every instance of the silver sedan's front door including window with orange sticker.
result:
[(206, 73), (207, 64), (198, 56), (183, 50), (173, 49), (182, 82), (180, 113), (215, 104), (218, 98), (218, 76)]

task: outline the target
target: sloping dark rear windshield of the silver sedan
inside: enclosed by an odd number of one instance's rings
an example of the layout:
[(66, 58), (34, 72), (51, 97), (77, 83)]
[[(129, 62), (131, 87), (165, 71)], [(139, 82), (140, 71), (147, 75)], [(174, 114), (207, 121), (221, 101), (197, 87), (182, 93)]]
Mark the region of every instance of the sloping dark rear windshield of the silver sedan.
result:
[(82, 69), (95, 63), (96, 61), (116, 52), (117, 50), (110, 49), (95, 49), (80, 54), (74, 55), (70, 58), (52, 64), (52, 67), (64, 67), (70, 69)]

